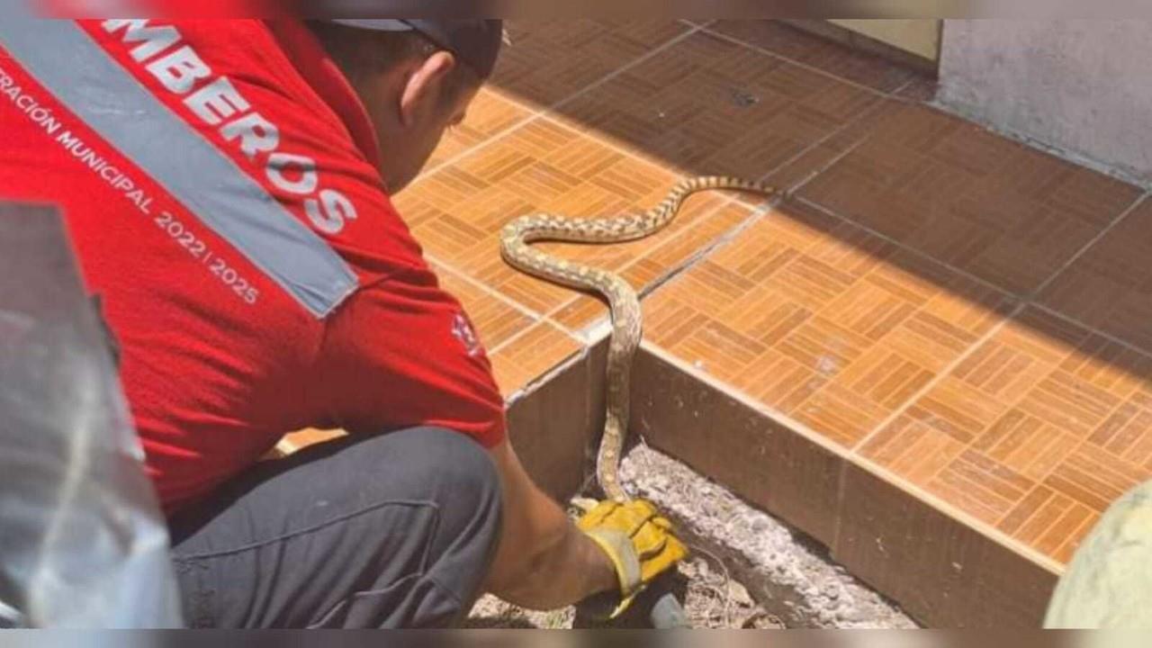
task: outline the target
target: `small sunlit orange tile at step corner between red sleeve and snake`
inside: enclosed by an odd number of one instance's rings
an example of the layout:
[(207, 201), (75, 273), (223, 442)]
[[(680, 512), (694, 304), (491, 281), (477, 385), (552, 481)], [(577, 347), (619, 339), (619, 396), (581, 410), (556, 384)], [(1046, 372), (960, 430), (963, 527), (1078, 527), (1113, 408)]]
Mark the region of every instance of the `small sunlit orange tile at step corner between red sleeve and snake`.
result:
[(505, 398), (523, 390), (582, 349), (564, 331), (536, 324), (491, 353), (492, 371)]

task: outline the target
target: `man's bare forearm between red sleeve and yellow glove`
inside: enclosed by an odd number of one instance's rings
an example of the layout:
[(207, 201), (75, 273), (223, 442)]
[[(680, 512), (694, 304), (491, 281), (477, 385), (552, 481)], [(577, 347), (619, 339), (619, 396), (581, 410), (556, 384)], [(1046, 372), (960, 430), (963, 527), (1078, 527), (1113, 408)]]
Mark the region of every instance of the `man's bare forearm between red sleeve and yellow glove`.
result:
[(503, 534), (486, 589), (533, 610), (619, 589), (607, 555), (532, 482), (511, 445), (505, 440), (491, 454), (503, 487)]

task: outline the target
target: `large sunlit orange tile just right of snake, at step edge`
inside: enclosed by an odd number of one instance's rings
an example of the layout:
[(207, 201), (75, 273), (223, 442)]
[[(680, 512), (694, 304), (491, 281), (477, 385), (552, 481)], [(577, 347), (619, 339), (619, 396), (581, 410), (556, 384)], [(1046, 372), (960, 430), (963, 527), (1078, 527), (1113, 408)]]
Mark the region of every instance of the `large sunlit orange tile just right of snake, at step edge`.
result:
[(655, 291), (645, 312), (650, 341), (851, 449), (1007, 303), (855, 225), (787, 204)]

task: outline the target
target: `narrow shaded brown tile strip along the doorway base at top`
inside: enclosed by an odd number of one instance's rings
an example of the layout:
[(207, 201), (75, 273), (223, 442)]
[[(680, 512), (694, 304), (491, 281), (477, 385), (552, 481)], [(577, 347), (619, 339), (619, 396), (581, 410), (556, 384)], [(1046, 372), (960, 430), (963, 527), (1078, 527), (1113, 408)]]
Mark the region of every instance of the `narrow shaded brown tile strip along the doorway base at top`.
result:
[(717, 21), (708, 29), (880, 92), (892, 92), (916, 76), (915, 71), (880, 56), (778, 21)]

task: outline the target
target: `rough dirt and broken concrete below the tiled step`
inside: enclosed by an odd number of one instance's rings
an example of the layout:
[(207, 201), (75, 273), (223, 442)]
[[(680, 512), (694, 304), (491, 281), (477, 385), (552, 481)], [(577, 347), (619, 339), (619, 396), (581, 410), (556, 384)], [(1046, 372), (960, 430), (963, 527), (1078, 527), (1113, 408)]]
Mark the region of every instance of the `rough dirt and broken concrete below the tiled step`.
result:
[[(697, 628), (917, 627), (892, 602), (827, 557), (826, 550), (684, 465), (643, 444), (621, 467), (629, 491), (674, 519), (692, 556), (672, 579)], [(617, 624), (645, 627), (644, 608)], [(573, 608), (525, 611), (482, 598), (469, 627), (594, 627)]]

